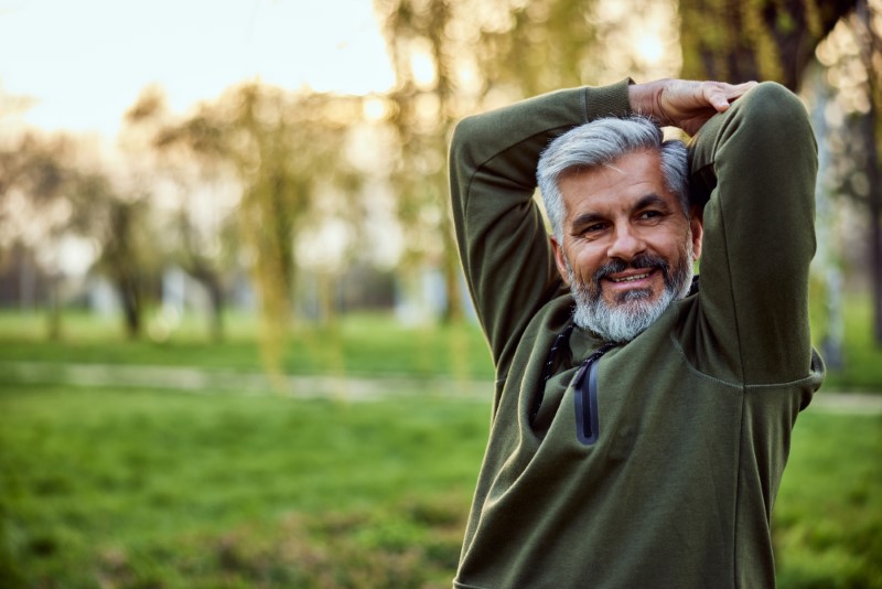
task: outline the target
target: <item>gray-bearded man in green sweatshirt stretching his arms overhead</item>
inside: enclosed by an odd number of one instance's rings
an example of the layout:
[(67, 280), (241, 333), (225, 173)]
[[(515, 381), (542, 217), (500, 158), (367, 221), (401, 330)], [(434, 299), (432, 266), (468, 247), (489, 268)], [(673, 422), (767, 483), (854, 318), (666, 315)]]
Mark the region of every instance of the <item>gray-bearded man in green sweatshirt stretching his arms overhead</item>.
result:
[[(633, 114), (696, 135), (688, 154)], [(822, 378), (816, 168), (775, 84), (625, 81), (458, 126), (497, 381), (455, 587), (774, 586), (771, 511)]]

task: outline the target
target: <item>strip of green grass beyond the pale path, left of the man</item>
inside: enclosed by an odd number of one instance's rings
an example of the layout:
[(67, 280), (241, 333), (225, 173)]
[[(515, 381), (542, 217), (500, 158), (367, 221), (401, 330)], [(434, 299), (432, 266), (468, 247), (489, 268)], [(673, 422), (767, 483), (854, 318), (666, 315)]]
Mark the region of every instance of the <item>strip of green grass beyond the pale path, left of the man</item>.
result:
[[(0, 313), (0, 361), (201, 366), (262, 370), (259, 325), (251, 317), (227, 321), (222, 343), (209, 343), (203, 325), (190, 319), (161, 342), (148, 334), (127, 340), (115, 320), (84, 313), (64, 315), (63, 336), (46, 339), (40, 313)], [(333, 329), (301, 324), (282, 352), (289, 374), (409, 374), (491, 378), (490, 351), (473, 324), (406, 326), (392, 318), (347, 317)]]

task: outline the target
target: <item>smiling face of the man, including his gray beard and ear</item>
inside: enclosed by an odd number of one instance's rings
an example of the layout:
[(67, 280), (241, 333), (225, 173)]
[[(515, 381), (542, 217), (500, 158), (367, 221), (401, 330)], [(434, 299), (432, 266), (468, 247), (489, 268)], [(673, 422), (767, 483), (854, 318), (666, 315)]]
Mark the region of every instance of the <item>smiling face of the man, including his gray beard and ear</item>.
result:
[(650, 151), (570, 170), (558, 186), (564, 216), (552, 246), (576, 322), (606, 340), (632, 340), (688, 292), (701, 221), (684, 214)]

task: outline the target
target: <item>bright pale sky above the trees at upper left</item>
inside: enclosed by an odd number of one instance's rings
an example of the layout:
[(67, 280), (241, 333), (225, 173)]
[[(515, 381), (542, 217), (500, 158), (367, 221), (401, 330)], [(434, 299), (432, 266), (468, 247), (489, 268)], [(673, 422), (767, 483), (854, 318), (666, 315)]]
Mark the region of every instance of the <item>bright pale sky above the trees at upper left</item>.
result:
[(19, 117), (46, 130), (112, 137), (150, 84), (184, 113), (255, 78), (387, 90), (372, 0), (0, 0), (0, 96), (32, 99)]

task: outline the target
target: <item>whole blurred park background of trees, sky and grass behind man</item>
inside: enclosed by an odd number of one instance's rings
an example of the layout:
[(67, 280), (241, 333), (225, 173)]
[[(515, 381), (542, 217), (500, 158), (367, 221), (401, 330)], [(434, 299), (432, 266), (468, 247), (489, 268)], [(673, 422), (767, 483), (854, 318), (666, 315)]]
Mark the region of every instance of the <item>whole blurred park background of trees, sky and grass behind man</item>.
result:
[(882, 1), (0, 0), (0, 585), (449, 587), (493, 370), (463, 116), (776, 81), (829, 377), (782, 587), (882, 587)]

